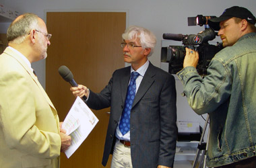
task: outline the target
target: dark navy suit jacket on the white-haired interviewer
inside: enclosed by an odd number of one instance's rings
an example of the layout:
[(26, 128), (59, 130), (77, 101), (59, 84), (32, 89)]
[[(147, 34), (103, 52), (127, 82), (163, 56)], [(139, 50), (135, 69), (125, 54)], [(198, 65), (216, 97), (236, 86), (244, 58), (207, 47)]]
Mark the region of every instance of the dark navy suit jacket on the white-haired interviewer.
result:
[[(131, 67), (118, 69), (100, 92), (90, 91), (87, 105), (94, 109), (110, 107), (102, 165), (115, 146), (115, 130), (121, 118)], [(131, 161), (133, 168), (173, 167), (177, 142), (175, 79), (150, 63), (131, 109)]]

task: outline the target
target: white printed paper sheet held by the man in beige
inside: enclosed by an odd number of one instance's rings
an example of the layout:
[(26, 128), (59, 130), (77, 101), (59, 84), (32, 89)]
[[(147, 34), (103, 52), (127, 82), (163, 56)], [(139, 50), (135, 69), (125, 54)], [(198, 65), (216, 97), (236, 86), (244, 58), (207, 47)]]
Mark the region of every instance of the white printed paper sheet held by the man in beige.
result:
[(80, 97), (77, 97), (62, 124), (62, 128), (67, 131), (66, 134), (72, 138), (71, 146), (65, 151), (67, 158), (78, 149), (97, 123), (98, 118), (92, 110)]

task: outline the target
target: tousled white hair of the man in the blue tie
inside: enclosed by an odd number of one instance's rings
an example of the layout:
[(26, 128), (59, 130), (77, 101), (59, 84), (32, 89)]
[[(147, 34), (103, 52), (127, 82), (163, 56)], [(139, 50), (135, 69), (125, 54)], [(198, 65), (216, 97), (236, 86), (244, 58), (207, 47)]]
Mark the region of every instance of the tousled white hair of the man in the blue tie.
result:
[(156, 36), (146, 28), (139, 26), (130, 26), (122, 34), (123, 40), (132, 40), (133, 38), (139, 38), (142, 48), (151, 48), (150, 56), (154, 52), (156, 46)]

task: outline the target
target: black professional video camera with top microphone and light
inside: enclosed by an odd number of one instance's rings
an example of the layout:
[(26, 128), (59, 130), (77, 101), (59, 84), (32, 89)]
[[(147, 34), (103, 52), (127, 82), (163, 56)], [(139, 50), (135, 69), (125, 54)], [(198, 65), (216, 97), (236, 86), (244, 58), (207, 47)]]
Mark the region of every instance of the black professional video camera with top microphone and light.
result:
[[(207, 20), (216, 16), (203, 16), (197, 15), (197, 17), (188, 17), (188, 26), (203, 26), (207, 25)], [(184, 46), (168, 46), (161, 49), (161, 61), (169, 62), (168, 72), (176, 74), (183, 69), (183, 60), (185, 58), (185, 48), (192, 48), (199, 53), (199, 61), (197, 64), (197, 72), (199, 75), (206, 75), (207, 67), (214, 57), (214, 55), (222, 50), (222, 44), (216, 45), (209, 44), (208, 41), (216, 38), (216, 32), (212, 28), (206, 28), (198, 34), (163, 34), (163, 38), (166, 40), (182, 41)]]

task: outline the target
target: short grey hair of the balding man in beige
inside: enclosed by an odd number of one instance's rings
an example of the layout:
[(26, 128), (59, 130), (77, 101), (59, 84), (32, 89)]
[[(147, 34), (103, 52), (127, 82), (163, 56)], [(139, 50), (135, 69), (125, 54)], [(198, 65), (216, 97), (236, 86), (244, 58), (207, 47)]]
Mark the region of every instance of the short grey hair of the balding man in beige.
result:
[(7, 29), (7, 40), (15, 44), (24, 42), (30, 30), (38, 28), (38, 15), (24, 13), (15, 19)]

